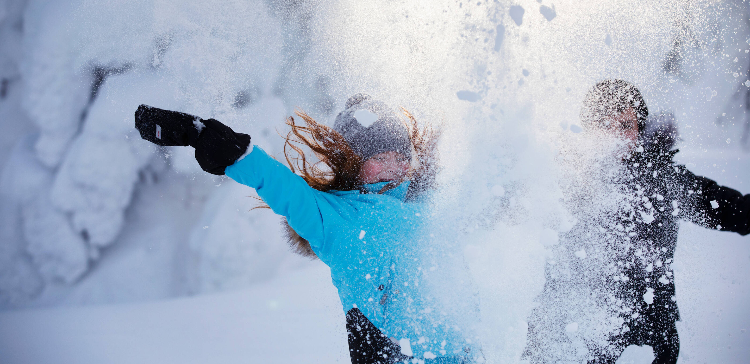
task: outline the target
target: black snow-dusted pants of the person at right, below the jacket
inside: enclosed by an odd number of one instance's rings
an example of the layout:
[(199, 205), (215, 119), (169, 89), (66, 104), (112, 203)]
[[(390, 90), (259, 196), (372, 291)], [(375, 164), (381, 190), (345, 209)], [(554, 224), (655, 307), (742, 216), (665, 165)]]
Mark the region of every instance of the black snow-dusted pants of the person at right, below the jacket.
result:
[(588, 364), (614, 364), (628, 345), (649, 345), (654, 351), (652, 364), (675, 364), (679, 355), (679, 338), (674, 321), (635, 326), (627, 333), (614, 336), (610, 340), (614, 350), (601, 353)]

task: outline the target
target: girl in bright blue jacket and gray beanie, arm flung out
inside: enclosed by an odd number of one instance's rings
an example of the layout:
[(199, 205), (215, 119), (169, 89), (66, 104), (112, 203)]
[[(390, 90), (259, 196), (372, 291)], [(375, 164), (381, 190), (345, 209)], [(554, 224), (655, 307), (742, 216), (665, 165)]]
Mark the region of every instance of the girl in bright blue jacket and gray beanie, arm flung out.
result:
[[(434, 180), (437, 134), (419, 132), (408, 112), (410, 124), (367, 94), (347, 100), (333, 129), (296, 115), (306, 126), (287, 120), (288, 168), (214, 119), (142, 105), (135, 120), (143, 139), (193, 146), (203, 170), (256, 189), (286, 218), (293, 249), (331, 268), (352, 363), (483, 361), (471, 330), (451, 319), (462, 313), (446, 315), (444, 297), (429, 284), (438, 274), (431, 260), (437, 250), (425, 230), (430, 213), (423, 200)], [(310, 163), (299, 145), (326, 168)], [(299, 158), (290, 159), (287, 147)]]

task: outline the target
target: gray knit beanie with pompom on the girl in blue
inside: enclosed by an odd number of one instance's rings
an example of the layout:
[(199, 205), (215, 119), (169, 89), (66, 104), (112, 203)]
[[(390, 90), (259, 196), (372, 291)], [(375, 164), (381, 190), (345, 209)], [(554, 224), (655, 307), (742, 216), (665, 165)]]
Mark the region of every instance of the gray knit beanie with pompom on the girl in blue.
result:
[(404, 121), (386, 103), (368, 94), (355, 94), (336, 116), (334, 130), (344, 136), (354, 153), (369, 160), (374, 155), (397, 151), (412, 157), (412, 143)]

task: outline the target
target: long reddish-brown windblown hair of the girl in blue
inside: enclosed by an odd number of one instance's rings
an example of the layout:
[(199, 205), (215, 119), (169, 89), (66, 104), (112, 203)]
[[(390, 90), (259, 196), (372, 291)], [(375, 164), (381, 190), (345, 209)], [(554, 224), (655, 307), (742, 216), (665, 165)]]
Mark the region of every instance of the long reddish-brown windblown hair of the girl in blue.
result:
[[(401, 108), (401, 112), (405, 117), (402, 120), (409, 133), (414, 160), (407, 175), (401, 181), (387, 183), (378, 193), (393, 189), (408, 180), (411, 181), (407, 192), (407, 201), (409, 201), (422, 192), (434, 188), (437, 174), (437, 142), (440, 139), (440, 131), (431, 125), (420, 128), (414, 115), (407, 109)], [(285, 137), (284, 158), (292, 172), (300, 175), (312, 188), (323, 192), (332, 189), (339, 191), (362, 189), (359, 172), (365, 161), (354, 153), (344, 140), (344, 136), (331, 127), (318, 123), (302, 109), (297, 109), (295, 114), (305, 121), (305, 125), (297, 124), (294, 117), (287, 118), (286, 124), (292, 130)], [(310, 148), (312, 156), (305, 154), (303, 150), (305, 147)], [(296, 156), (291, 154), (292, 152)], [(287, 243), (297, 255), (317, 258), (308, 240), (299, 236), (286, 218), (282, 220), (282, 225)]]

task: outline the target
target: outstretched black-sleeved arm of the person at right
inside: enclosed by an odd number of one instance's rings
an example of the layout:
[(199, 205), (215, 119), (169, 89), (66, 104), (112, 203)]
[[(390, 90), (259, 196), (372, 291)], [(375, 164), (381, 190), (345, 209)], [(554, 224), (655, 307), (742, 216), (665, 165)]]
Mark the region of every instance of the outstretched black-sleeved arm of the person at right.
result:
[(677, 188), (685, 207), (679, 214), (682, 218), (707, 228), (750, 234), (750, 195), (696, 176), (684, 166), (676, 166), (675, 175), (681, 182)]

